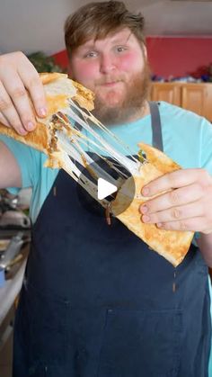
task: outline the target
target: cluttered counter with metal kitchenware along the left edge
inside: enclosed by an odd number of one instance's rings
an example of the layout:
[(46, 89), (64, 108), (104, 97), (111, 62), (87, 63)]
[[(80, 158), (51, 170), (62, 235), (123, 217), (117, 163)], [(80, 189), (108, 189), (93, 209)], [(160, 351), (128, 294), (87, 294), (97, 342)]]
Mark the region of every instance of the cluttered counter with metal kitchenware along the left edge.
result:
[(5, 376), (11, 375), (13, 319), (31, 242), (29, 201), (22, 202), (0, 190), (0, 375)]

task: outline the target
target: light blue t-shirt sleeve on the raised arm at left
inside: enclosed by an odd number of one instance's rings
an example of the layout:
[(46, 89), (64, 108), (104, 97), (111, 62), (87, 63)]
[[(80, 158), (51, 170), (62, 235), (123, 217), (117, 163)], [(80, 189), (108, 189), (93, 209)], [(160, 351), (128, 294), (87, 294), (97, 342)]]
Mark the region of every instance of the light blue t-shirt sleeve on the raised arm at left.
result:
[[(22, 175), (22, 188), (32, 187), (35, 184), (36, 172), (39, 169), (40, 152), (22, 144), (19, 141), (0, 135), (0, 140), (13, 153)], [(11, 193), (18, 193), (20, 188), (7, 187)]]

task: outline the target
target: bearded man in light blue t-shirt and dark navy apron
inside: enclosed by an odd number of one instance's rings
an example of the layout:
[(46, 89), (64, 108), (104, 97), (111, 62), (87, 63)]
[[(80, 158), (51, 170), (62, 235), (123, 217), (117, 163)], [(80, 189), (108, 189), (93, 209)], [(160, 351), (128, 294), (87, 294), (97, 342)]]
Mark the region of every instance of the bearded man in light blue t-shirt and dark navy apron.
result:
[[(65, 27), (71, 76), (93, 90), (95, 115), (135, 153), (155, 131), (143, 27), (141, 14), (116, 1), (85, 5)], [(0, 119), (26, 134), (35, 127), (26, 89), (46, 113), (39, 76), (13, 53), (0, 58), (0, 78)], [(33, 189), (13, 377), (208, 376), (212, 129), (194, 113), (158, 107), (154, 145), (183, 169), (147, 184), (144, 195), (161, 195), (139, 211), (163, 229), (198, 232), (200, 251), (192, 245), (176, 269), (118, 220), (108, 227), (87, 211), (73, 180), (43, 168), (40, 152), (1, 137), (1, 186)]]

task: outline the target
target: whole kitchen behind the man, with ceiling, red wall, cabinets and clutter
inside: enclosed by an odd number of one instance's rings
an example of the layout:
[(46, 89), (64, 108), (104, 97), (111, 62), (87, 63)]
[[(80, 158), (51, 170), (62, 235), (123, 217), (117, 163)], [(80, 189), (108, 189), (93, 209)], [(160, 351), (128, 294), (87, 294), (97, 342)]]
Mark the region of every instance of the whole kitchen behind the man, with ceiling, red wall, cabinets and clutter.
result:
[[(66, 16), (85, 3), (3, 0), (0, 54), (22, 50), (31, 56), (39, 51), (34, 58), (41, 67), (48, 63), (47, 70), (68, 70), (63, 25)], [(128, 0), (126, 4), (146, 17), (153, 79), (150, 98), (179, 104), (212, 121), (212, 0)], [(1, 377), (12, 375), (13, 313), (30, 242), (29, 202), (29, 191), (18, 197), (0, 192)]]

